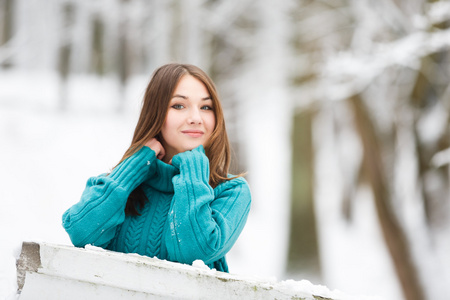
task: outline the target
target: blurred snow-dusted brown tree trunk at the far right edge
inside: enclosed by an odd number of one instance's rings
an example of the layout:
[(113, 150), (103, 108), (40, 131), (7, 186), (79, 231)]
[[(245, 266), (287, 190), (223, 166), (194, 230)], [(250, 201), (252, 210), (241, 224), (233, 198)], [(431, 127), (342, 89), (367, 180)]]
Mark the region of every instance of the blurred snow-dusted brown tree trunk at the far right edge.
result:
[[(444, 69), (447, 65), (447, 51), (433, 54), (422, 59), (421, 68), (414, 83), (411, 95), (411, 104), (414, 108), (414, 133), (416, 140), (417, 161), (419, 166), (419, 179), (422, 189), (422, 199), (425, 208), (428, 226), (443, 226), (442, 222), (448, 219), (446, 205), (448, 191), (448, 165), (436, 168), (430, 162), (433, 156), (439, 151), (450, 147), (449, 126), (447, 113), (446, 124), (441, 124), (445, 128), (441, 136), (430, 140), (419, 133), (420, 120), (430, 111), (442, 109), (445, 111), (445, 104), (442, 102), (448, 86), (448, 71)], [(434, 67), (436, 66), (436, 67)], [(442, 122), (444, 123), (444, 122)], [(433, 178), (434, 184), (429, 184), (427, 179)]]

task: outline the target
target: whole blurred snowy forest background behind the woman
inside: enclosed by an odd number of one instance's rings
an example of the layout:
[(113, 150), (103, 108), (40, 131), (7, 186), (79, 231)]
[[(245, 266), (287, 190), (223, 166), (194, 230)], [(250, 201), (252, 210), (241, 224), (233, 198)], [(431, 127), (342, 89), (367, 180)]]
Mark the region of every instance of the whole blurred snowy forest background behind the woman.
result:
[(252, 212), (232, 273), (450, 294), (450, 1), (0, 0), (0, 298), (128, 147), (168, 62), (216, 82)]

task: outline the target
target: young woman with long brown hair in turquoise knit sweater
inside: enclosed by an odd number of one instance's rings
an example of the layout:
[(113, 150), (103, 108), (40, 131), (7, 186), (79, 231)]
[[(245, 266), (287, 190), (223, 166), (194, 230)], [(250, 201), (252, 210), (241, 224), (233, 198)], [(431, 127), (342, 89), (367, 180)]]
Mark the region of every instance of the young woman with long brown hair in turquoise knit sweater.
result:
[(230, 145), (219, 97), (198, 67), (153, 74), (131, 146), (108, 175), (88, 180), (63, 215), (77, 247), (92, 244), (228, 272), (225, 254), (250, 210), (242, 176), (228, 174)]

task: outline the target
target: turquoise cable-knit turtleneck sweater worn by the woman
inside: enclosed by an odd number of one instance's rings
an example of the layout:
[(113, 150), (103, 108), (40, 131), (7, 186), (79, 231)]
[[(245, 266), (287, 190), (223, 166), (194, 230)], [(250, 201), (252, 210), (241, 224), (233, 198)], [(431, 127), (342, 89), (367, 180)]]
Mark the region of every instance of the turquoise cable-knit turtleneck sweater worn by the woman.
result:
[[(225, 254), (241, 233), (250, 210), (250, 190), (239, 177), (209, 185), (202, 146), (175, 155), (172, 164), (143, 147), (109, 175), (88, 180), (80, 202), (63, 215), (76, 247), (87, 244), (228, 272)], [(148, 202), (140, 216), (125, 205), (138, 186)]]

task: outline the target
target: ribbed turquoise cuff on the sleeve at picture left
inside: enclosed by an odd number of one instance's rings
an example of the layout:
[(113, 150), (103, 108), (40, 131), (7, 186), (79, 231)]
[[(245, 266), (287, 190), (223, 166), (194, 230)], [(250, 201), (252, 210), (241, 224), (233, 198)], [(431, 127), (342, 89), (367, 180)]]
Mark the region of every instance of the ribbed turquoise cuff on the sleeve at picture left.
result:
[(155, 151), (144, 146), (114, 168), (109, 177), (120, 187), (131, 192), (151, 175), (155, 159), (157, 159)]

